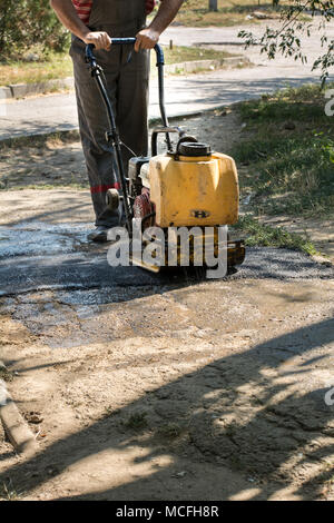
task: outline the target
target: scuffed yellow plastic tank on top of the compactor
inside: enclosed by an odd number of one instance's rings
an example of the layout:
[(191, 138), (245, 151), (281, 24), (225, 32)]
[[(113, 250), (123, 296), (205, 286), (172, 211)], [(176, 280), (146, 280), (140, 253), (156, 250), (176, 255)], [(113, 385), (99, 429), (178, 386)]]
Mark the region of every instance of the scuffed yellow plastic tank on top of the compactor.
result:
[(155, 156), (148, 176), (159, 227), (230, 225), (238, 219), (238, 176), (229, 156)]

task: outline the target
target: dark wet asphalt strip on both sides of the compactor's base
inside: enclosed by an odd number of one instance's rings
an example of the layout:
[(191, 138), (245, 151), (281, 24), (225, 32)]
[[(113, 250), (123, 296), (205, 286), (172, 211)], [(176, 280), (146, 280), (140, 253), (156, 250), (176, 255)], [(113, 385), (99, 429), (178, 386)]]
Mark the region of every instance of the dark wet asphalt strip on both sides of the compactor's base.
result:
[[(191, 274), (155, 275), (138, 267), (112, 268), (107, 246), (86, 240), (89, 226), (21, 223), (0, 227), (0, 296), (42, 289), (90, 289), (115, 286), (191, 284)], [(298, 251), (249, 248), (238, 272), (229, 278), (333, 278), (334, 268)]]

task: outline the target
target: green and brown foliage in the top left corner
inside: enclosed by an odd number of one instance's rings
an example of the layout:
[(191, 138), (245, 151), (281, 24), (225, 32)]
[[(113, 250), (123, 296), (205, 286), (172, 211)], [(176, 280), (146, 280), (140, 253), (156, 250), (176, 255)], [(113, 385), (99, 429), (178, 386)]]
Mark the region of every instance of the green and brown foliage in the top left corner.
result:
[(49, 0), (0, 0), (0, 60), (20, 56), (31, 46), (61, 51), (68, 32), (57, 20)]

